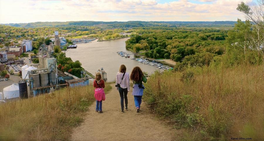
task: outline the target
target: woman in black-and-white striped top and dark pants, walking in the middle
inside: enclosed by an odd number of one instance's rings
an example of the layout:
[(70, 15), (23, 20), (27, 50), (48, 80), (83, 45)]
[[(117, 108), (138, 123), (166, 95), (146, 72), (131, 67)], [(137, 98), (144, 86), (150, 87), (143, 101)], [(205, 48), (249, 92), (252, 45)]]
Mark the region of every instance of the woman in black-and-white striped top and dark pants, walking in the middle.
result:
[(126, 72), (126, 66), (121, 65), (119, 72), (116, 73), (116, 90), (120, 94), (120, 103), (121, 103), (121, 113), (124, 113), (124, 99), (125, 99), (125, 108), (127, 110), (127, 93), (129, 92), (129, 74)]

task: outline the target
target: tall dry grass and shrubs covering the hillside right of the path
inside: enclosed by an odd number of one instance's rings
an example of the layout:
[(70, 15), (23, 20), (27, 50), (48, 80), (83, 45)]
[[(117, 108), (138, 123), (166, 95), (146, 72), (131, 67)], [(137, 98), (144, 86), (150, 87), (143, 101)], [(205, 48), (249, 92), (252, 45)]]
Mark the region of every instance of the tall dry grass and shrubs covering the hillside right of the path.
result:
[(261, 140), (263, 84), (264, 65), (156, 72), (145, 85), (144, 99), (175, 128), (192, 129), (185, 140)]

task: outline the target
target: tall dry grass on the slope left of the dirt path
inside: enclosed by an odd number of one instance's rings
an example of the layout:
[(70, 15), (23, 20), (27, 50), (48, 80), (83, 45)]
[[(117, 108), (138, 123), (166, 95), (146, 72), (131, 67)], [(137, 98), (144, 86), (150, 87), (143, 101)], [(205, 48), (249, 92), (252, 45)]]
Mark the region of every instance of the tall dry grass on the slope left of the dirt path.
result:
[[(104, 90), (110, 89), (106, 85)], [(89, 85), (0, 104), (0, 140), (67, 140), (92, 102)]]

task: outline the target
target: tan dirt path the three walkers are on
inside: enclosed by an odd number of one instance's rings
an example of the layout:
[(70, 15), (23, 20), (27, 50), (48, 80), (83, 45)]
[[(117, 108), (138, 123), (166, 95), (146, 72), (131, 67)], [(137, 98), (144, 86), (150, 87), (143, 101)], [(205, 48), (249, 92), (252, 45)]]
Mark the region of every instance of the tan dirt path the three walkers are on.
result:
[(158, 141), (178, 140), (175, 138), (176, 130), (167, 125), (160, 124), (143, 102), (141, 113), (136, 113), (134, 99), (128, 93), (128, 110), (121, 113), (120, 96), (113, 89), (103, 101), (103, 112), (95, 112), (95, 103), (87, 112), (84, 122), (74, 129), (73, 141)]

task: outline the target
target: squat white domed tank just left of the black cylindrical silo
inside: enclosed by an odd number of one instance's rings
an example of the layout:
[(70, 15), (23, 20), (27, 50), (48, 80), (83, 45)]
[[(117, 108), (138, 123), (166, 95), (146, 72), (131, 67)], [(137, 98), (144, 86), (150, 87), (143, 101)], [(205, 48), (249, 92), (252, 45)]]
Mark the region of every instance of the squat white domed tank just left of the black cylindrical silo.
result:
[(9, 99), (9, 98), (17, 98), (19, 97), (19, 87), (18, 84), (12, 84), (6, 88), (3, 89), (4, 98), (3, 99)]

